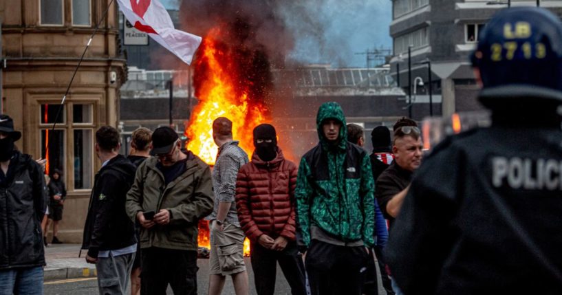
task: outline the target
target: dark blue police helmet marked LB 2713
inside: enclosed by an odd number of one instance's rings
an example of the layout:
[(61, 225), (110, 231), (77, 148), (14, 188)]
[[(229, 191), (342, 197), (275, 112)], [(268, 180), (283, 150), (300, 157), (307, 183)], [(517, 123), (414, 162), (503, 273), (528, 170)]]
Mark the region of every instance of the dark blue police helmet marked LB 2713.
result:
[(506, 99), (562, 104), (562, 23), (543, 8), (501, 10), (479, 36), (472, 63), (484, 85), (480, 102), (493, 108)]

